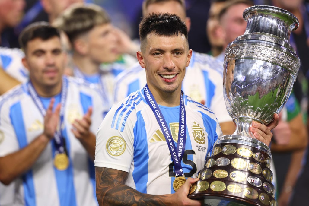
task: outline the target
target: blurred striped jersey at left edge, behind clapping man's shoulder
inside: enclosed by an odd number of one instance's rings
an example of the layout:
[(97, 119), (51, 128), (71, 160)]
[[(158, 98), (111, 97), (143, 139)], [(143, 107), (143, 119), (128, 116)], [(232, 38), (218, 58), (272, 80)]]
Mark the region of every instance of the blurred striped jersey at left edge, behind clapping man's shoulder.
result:
[(0, 47), (0, 66), (19, 82), (28, 81), (28, 69), (22, 64), (24, 53), (19, 48)]

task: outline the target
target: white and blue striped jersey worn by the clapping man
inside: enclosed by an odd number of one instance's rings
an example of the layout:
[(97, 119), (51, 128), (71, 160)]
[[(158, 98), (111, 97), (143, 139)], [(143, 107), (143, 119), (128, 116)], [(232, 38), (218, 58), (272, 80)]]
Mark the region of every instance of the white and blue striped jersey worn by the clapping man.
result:
[[(95, 134), (109, 106), (102, 101), (94, 85), (72, 77), (64, 77), (63, 81), (67, 81), (67, 96), (61, 136), (66, 142), (69, 167), (63, 171), (54, 167), (53, 157), (56, 149), (51, 140), (31, 169), (12, 183), (15, 194), (14, 204), (11, 205), (97, 205), (94, 163), (71, 129), (74, 120), (81, 119), (91, 106), (93, 112), (90, 130)], [(26, 147), (42, 134), (44, 118), (29, 95), (27, 83), (16, 86), (1, 97), (0, 156), (3, 157)], [(55, 98), (56, 102), (59, 102), (57, 96)], [(43, 100), (42, 103), (46, 109), (48, 103), (44, 103)], [(11, 194), (10, 191), (6, 193)], [(3, 194), (0, 193), (0, 203)]]

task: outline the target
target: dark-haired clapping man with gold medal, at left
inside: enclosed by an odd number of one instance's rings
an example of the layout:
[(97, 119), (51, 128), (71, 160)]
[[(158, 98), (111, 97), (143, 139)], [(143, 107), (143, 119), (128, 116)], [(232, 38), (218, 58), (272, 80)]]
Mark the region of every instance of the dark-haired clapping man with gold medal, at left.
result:
[(39, 22), (20, 35), (30, 80), (0, 101), (0, 181), (9, 205), (97, 205), (95, 135), (109, 106), (94, 85), (63, 77), (58, 30)]

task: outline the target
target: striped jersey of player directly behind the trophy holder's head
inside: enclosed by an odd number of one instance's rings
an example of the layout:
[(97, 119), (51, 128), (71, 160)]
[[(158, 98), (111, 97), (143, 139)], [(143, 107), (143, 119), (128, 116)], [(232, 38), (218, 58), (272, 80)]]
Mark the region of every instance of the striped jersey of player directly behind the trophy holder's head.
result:
[[(216, 114), (219, 123), (232, 121), (223, 99), (222, 67), (214, 57), (193, 52), (181, 87), (186, 95), (209, 107)], [(145, 84), (145, 69), (139, 64), (122, 72), (116, 79), (114, 103), (141, 89)]]

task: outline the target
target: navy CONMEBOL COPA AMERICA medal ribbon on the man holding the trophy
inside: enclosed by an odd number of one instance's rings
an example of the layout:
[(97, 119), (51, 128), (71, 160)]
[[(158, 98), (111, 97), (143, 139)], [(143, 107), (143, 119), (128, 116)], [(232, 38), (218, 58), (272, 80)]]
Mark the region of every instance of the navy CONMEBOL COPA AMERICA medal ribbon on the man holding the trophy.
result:
[[(186, 111), (184, 109), (184, 100), (182, 99), (182, 95), (180, 96), (179, 131), (178, 131), (178, 140), (177, 140), (177, 148), (176, 148), (174, 140), (171, 135), (171, 131), (167, 125), (167, 122), (165, 121), (162, 115), (162, 112), (160, 110), (160, 107), (158, 103), (156, 102), (154, 96), (152, 95), (151, 91), (149, 90), (147, 84), (144, 87), (144, 92), (145, 92), (146, 102), (148, 103), (151, 110), (155, 114), (155, 117), (158, 121), (158, 124), (167, 142), (168, 149), (171, 152), (171, 157), (173, 159), (174, 166), (175, 166), (175, 175), (176, 177), (183, 176), (184, 172), (182, 170), (181, 160), (182, 160), (182, 157), (184, 156), (184, 148), (186, 145), (187, 120), (186, 120)], [(180, 148), (180, 145), (182, 145), (182, 148)], [(176, 152), (174, 152), (175, 148), (176, 148)]]

